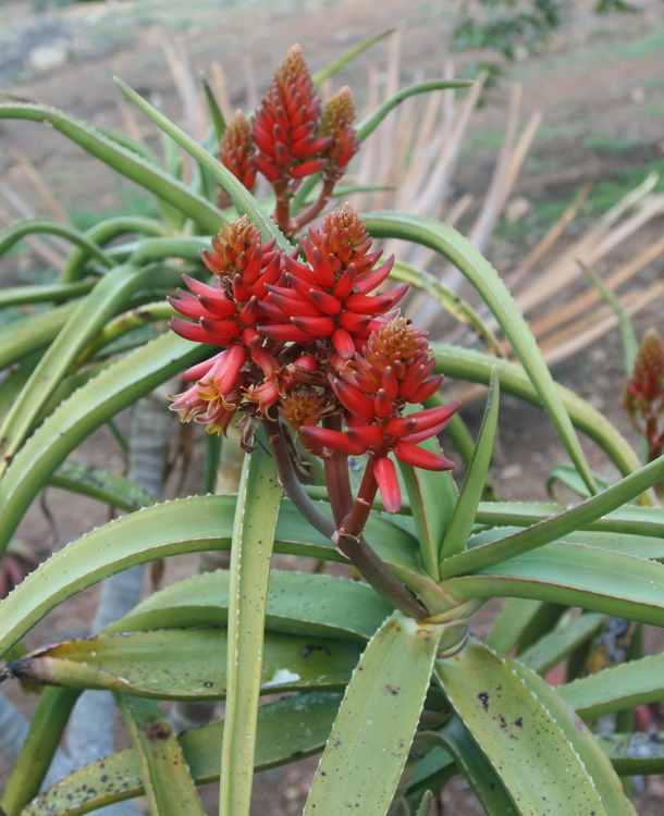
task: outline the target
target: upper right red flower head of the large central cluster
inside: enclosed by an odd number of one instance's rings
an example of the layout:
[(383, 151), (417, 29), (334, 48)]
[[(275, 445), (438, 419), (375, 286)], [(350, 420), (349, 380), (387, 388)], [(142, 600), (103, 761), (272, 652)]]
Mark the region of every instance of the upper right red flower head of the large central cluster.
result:
[(302, 248), (306, 263), (286, 257), (281, 285), (269, 287), (270, 295), (259, 305), (272, 322), (260, 330), (290, 338), (291, 324), (298, 339), (330, 338), (336, 355), (348, 359), (369, 336), (371, 322), (389, 312), (408, 286), (368, 294), (388, 277), (394, 258), (374, 268), (380, 252), (370, 251), (371, 238), (348, 205), (330, 213), (320, 230), (310, 230)]

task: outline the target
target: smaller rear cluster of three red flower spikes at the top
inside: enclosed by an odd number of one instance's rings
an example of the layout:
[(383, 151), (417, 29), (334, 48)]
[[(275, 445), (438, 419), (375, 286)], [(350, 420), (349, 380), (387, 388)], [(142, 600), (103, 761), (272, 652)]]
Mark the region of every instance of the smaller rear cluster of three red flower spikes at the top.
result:
[[(293, 234), (322, 211), (357, 152), (354, 120), (349, 88), (342, 88), (323, 108), (302, 48), (293, 46), (253, 122), (242, 112), (230, 122), (220, 145), (220, 160), (249, 190), (257, 172), (265, 176), (276, 197), (276, 223), (284, 233)], [(319, 172), (323, 183), (318, 200), (292, 220), (294, 193), (303, 178)], [(221, 203), (228, 205), (223, 193)]]

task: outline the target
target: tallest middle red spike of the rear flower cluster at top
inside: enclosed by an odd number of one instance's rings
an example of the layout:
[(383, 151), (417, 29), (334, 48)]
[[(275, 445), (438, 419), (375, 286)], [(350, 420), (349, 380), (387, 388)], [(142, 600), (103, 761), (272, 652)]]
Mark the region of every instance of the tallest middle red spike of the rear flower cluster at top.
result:
[(330, 139), (317, 136), (320, 100), (299, 46), (293, 46), (256, 113), (256, 166), (271, 183), (317, 173)]

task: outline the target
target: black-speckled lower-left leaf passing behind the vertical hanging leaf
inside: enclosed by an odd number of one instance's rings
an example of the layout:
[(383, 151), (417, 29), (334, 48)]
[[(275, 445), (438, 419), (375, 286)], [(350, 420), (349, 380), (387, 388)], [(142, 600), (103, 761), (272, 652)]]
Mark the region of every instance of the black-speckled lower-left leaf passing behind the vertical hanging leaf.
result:
[[(335, 692), (295, 694), (260, 707), (256, 769), (271, 768), (320, 751), (336, 715)], [(197, 784), (219, 779), (223, 722), (185, 731), (177, 737)], [(22, 816), (81, 816), (98, 807), (143, 793), (140, 763), (135, 750), (120, 751), (75, 771), (30, 803)]]

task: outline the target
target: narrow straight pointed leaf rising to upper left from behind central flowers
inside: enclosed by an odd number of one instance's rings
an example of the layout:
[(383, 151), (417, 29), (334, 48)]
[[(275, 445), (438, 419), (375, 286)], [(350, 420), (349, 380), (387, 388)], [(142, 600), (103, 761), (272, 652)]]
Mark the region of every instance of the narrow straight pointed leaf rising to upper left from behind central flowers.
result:
[(292, 248), (291, 244), (282, 235), (274, 222), (260, 209), (258, 201), (230, 170), (228, 170), (213, 156), (210, 156), (210, 153), (190, 136), (187, 136), (182, 128), (177, 127), (176, 124), (160, 113), (157, 108), (151, 106), (135, 90), (130, 88), (128, 85), (125, 85), (118, 78), (115, 78), (115, 82), (130, 102), (139, 108), (161, 131), (168, 134), (173, 141), (180, 145), (183, 150), (196, 159), (201, 168), (205, 168), (210, 173), (212, 178), (214, 178), (214, 181), (218, 182), (229, 194), (235, 209), (239, 213), (246, 213), (251, 219), (253, 223), (260, 230), (265, 238), (274, 238), (278, 245), (283, 249)]

